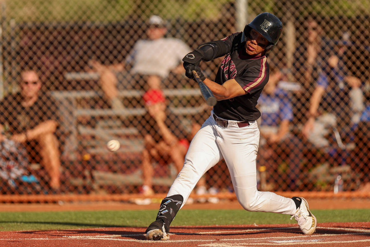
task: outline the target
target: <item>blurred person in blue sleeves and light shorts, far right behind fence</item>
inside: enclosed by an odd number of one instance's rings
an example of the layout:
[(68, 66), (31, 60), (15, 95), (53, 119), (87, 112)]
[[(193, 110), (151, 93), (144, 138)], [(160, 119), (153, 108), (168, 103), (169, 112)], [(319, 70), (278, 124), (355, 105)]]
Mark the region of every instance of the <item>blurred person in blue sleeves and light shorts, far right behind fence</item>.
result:
[[(363, 95), (360, 79), (349, 75), (345, 63), (348, 41), (332, 43), (316, 81), (302, 132), (315, 147), (334, 153), (331, 148), (344, 150), (353, 140), (353, 127), (359, 119), (357, 112), (363, 109)], [(328, 135), (333, 137), (328, 138)], [(339, 163), (345, 160), (341, 157)]]

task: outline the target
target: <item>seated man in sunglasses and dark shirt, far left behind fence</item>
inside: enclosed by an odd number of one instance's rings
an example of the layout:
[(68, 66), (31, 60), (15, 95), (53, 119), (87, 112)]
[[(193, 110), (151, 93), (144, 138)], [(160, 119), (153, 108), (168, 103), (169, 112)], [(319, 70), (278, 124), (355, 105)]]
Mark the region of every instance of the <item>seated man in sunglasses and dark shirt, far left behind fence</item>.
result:
[(57, 105), (40, 90), (41, 86), (35, 71), (23, 71), (20, 92), (10, 94), (0, 102), (0, 124), (7, 130), (7, 138), (26, 146), (31, 163), (44, 166), (49, 186), (59, 190), (61, 165), (56, 134), (59, 131)]

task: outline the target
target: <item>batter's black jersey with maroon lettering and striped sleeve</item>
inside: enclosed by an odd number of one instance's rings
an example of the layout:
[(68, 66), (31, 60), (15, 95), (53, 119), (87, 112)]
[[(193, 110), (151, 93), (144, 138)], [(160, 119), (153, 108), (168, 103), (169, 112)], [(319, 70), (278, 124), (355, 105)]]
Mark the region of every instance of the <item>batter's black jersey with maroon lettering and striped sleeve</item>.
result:
[(252, 57), (246, 54), (245, 42), (240, 42), (241, 37), (240, 32), (223, 39), (230, 44), (231, 50), (221, 63), (215, 82), (222, 85), (227, 80), (235, 79), (247, 93), (218, 101), (213, 111), (223, 119), (254, 121), (261, 116), (256, 105), (263, 87), (269, 80), (270, 68), (266, 55)]

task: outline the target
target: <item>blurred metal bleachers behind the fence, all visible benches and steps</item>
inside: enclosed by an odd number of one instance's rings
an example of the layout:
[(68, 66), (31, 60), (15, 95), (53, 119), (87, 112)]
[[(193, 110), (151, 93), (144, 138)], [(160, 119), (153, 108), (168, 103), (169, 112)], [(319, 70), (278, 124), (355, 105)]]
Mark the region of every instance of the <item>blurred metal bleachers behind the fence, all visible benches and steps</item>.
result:
[[(96, 73), (67, 73), (65, 80), (97, 80)], [(168, 110), (178, 116), (189, 116), (199, 114), (208, 106), (202, 100), (199, 89), (164, 89), (166, 99), (168, 99)], [(106, 157), (109, 162), (112, 157), (121, 157), (120, 166), (126, 167), (131, 164), (130, 158), (140, 157), (144, 148), (144, 141), (137, 126), (125, 124), (127, 119), (140, 119), (147, 114), (147, 110), (138, 102), (141, 100), (144, 91), (125, 90), (119, 91), (118, 97), (125, 102), (125, 108), (94, 108), (96, 100), (103, 99), (102, 91), (79, 90), (79, 91), (51, 91), (51, 96), (58, 102), (61, 111), (61, 124), (68, 131), (69, 137), (65, 144), (65, 150), (69, 150), (68, 156), (71, 160), (80, 157), (81, 154)], [(192, 104), (186, 104), (189, 100)], [(85, 103), (82, 103), (85, 102)], [(87, 103), (86, 102), (90, 102)], [(185, 102), (185, 104), (184, 104)], [(86, 119), (81, 121), (81, 119)], [(95, 119), (91, 124), (90, 120)], [(128, 121), (129, 122), (129, 121)], [(114, 154), (106, 148), (108, 140), (116, 139), (121, 147)], [(75, 153), (78, 153), (77, 155)], [(123, 158), (122, 157), (127, 157)], [(122, 184), (139, 185), (142, 183), (141, 170), (133, 172), (113, 172), (110, 170), (99, 170), (87, 167), (93, 178), (93, 187), (99, 190), (104, 186), (119, 186)], [(169, 186), (173, 177), (176, 176), (176, 169), (173, 164), (169, 164), (169, 177), (154, 177), (154, 184)], [(71, 178), (70, 183), (77, 186), (88, 181), (80, 181), (80, 178)]]

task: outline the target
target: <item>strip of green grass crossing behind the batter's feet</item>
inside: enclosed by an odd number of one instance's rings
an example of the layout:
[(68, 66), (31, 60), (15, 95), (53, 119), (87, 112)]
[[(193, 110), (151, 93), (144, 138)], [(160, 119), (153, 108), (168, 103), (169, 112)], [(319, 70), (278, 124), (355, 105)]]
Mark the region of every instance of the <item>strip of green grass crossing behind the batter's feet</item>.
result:
[[(370, 221), (370, 209), (313, 210), (317, 221)], [(63, 211), (0, 213), (0, 231), (61, 230), (94, 227), (147, 227), (157, 210), (137, 211)], [(171, 226), (293, 224), (290, 216), (244, 210), (181, 210)]]

